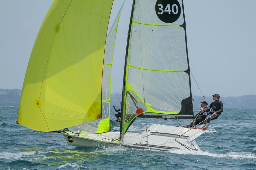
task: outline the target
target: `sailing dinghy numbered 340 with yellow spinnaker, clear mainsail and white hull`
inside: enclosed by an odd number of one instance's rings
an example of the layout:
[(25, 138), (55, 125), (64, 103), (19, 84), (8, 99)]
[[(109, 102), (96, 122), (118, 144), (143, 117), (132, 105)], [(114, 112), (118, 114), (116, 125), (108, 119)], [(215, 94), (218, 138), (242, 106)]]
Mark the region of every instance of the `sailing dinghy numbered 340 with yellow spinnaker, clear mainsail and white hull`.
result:
[(109, 130), (112, 61), (122, 11), (108, 27), (112, 4), (53, 1), (31, 52), (17, 123), (60, 132), (69, 145), (79, 147), (200, 150), (195, 139), (216, 131), (152, 124), (141, 133), (127, 132), (136, 119), (195, 118), (182, 0), (133, 0), (120, 131)]

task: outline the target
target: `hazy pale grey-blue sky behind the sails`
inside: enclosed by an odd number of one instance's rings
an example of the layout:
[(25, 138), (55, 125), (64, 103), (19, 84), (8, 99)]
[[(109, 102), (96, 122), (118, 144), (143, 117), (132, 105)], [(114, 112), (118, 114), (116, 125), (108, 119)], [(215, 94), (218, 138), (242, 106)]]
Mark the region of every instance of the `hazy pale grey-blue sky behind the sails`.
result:
[[(115, 1), (110, 25), (122, 5)], [(52, 0), (0, 0), (0, 89), (21, 89), (38, 30)], [(121, 92), (132, 0), (119, 21), (112, 91)], [(256, 94), (256, 1), (184, 0), (190, 70), (205, 96)], [(191, 76), (192, 94), (201, 96)]]

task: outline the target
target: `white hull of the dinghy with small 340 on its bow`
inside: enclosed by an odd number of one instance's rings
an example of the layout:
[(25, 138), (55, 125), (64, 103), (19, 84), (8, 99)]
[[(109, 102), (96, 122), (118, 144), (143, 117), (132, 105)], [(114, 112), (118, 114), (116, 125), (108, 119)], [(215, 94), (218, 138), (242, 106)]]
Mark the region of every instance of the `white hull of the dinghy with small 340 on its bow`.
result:
[(101, 147), (117, 144), (131, 148), (168, 151), (170, 149), (201, 150), (195, 139), (206, 132), (216, 131), (152, 124), (148, 131), (126, 133), (122, 141), (118, 140), (119, 132), (90, 135), (78, 135), (71, 132), (62, 134), (69, 145), (78, 147)]

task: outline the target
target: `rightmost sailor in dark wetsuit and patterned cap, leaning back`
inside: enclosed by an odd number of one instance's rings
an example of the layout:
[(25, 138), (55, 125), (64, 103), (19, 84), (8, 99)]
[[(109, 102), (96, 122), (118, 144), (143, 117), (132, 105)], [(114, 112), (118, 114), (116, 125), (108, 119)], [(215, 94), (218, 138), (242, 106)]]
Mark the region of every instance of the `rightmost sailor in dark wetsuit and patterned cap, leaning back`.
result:
[(212, 97), (213, 97), (213, 100), (215, 101), (210, 104), (209, 106), (211, 108), (210, 114), (205, 118), (206, 121), (204, 124), (200, 126), (200, 129), (203, 128), (204, 130), (206, 130), (210, 125), (210, 121), (217, 119), (220, 116), (220, 114), (223, 112), (223, 104), (219, 100), (220, 95), (216, 93), (212, 95)]

